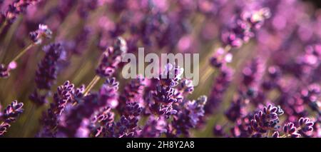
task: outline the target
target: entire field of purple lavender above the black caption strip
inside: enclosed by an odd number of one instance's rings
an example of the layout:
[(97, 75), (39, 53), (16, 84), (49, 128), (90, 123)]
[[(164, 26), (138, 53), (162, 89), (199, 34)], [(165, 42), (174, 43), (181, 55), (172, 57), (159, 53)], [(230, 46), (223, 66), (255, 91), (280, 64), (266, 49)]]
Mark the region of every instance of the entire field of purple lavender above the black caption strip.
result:
[[(320, 28), (312, 1), (0, 0), (0, 137), (321, 137)], [(138, 48), (198, 83), (125, 78)]]

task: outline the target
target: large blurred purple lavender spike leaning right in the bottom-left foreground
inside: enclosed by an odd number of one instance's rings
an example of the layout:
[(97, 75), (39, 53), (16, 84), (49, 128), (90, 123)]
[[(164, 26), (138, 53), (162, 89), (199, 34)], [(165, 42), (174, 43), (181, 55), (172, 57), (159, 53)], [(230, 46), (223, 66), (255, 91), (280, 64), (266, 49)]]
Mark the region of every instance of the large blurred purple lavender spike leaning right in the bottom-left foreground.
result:
[[(91, 133), (90, 120), (95, 112), (109, 105), (108, 101), (116, 96), (118, 82), (115, 78), (108, 78), (99, 93), (91, 93), (78, 98), (77, 105), (66, 113), (66, 118), (58, 126), (60, 136), (88, 137)], [(95, 135), (97, 132), (94, 132)]]

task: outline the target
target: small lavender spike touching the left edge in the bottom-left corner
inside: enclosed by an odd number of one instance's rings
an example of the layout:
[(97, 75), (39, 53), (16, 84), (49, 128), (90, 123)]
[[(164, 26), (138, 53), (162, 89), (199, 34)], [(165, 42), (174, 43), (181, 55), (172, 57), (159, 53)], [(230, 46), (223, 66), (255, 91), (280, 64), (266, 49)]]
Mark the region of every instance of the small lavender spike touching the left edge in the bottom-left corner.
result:
[(22, 106), (24, 106), (24, 103), (12, 101), (2, 113), (0, 112), (0, 136), (3, 136), (4, 133), (8, 131), (8, 128), (11, 126), (10, 123), (16, 121), (19, 115), (24, 111)]

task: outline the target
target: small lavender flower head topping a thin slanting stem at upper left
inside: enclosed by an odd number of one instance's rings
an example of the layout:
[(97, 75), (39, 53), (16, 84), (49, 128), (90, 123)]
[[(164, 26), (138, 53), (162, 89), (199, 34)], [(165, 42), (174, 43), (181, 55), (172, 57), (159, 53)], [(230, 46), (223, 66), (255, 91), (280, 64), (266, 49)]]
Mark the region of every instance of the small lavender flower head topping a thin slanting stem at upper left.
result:
[(36, 31), (31, 31), (29, 33), (29, 38), (34, 44), (41, 44), (44, 39), (51, 39), (52, 31), (48, 26), (44, 24), (39, 24), (39, 28)]

